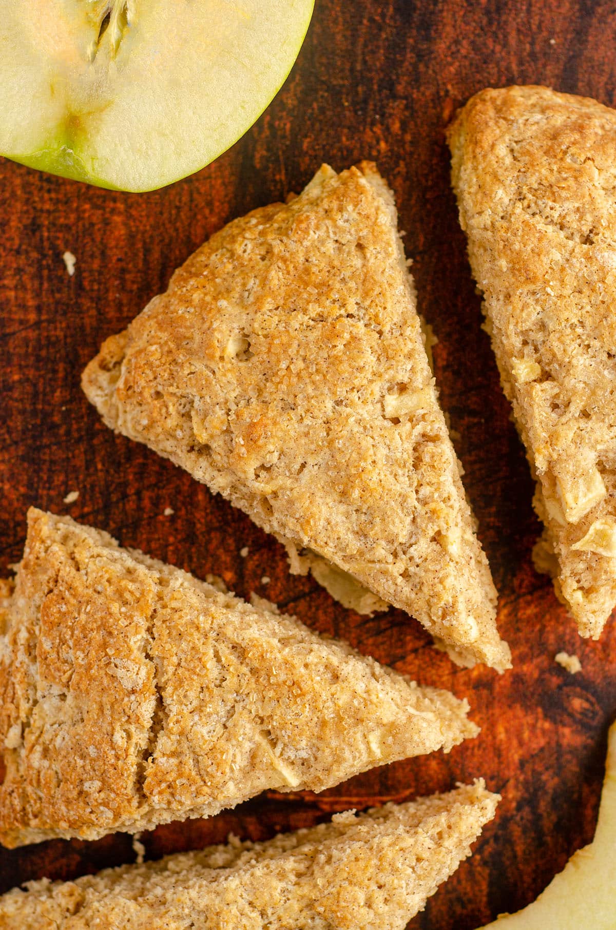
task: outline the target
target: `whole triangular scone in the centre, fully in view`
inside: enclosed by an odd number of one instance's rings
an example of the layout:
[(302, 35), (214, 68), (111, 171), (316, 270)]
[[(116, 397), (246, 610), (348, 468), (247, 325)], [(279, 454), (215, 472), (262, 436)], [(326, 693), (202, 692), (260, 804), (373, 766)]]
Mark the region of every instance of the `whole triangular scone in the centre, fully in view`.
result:
[(333, 564), (378, 595), (360, 608), (395, 604), (467, 662), (509, 665), (374, 166), (324, 166), (214, 235), (83, 386), (114, 430), (281, 539), (292, 570), (316, 553), (321, 583)]

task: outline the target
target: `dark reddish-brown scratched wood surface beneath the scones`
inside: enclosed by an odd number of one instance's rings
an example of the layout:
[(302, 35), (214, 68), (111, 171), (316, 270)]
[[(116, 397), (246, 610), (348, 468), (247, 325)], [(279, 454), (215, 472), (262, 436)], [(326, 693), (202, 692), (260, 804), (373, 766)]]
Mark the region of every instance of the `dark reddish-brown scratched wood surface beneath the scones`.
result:
[[(616, 103), (613, 2), (317, 0), (300, 59), (274, 103), (213, 165), (166, 190), (107, 193), (0, 160), (0, 568), (20, 557), (27, 507), (69, 512), (237, 593), (257, 591), (425, 684), (467, 696), (483, 727), (452, 751), (376, 769), (321, 796), (271, 795), (208, 821), (146, 834), (149, 857), (265, 838), (350, 806), (446, 790), (476, 776), (502, 791), (475, 856), (410, 924), (472, 930), (542, 890), (593, 836), (616, 711), (616, 626), (578, 638), (532, 567), (529, 469), (496, 365), (449, 190), (443, 126), (484, 86), (542, 83)], [(220, 497), (114, 436), (79, 389), (101, 339), (126, 326), (224, 222), (298, 191), (322, 161), (375, 159), (395, 190), (420, 309), (434, 326), (442, 404), (500, 591), (515, 668), (463, 671), (399, 611), (369, 620), (288, 575), (283, 551)], [(69, 277), (61, 255), (77, 259)], [(65, 495), (79, 491), (72, 505)], [(165, 515), (172, 508), (171, 515)], [(248, 557), (239, 551), (248, 546)], [(271, 581), (261, 583), (263, 576)], [(583, 671), (556, 665), (560, 650)], [(0, 851), (0, 891), (132, 861), (126, 835)]]

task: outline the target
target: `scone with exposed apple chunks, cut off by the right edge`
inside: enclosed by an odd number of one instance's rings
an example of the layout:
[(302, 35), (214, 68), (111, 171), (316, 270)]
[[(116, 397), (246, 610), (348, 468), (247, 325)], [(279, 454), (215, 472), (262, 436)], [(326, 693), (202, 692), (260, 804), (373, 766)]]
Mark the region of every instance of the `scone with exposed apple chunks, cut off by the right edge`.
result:
[(449, 130), (502, 386), (537, 479), (538, 566), (583, 636), (616, 604), (616, 112), (484, 90)]

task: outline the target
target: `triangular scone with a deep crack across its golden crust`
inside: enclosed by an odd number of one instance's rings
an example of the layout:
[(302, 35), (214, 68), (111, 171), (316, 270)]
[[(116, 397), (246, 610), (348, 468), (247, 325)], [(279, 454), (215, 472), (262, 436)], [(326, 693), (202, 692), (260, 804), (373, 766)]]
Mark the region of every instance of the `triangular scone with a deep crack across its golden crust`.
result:
[(468, 704), (31, 510), (0, 636), (0, 842), (323, 790), (478, 732)]

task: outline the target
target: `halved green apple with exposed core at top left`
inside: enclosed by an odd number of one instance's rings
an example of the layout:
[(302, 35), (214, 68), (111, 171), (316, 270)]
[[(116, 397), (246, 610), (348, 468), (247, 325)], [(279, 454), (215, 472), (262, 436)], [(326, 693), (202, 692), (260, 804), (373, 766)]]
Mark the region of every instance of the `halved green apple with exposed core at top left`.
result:
[(0, 0), (0, 153), (149, 191), (208, 165), (297, 58), (314, 0)]

